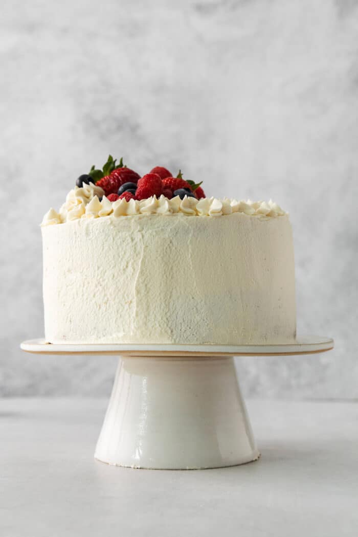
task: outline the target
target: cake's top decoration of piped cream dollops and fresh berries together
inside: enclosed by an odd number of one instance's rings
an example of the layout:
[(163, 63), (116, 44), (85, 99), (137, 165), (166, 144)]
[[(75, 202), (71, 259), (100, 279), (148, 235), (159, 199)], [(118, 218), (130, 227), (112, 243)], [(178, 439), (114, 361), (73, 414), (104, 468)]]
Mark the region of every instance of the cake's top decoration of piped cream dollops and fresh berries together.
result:
[(78, 177), (59, 212), (51, 208), (43, 217), (41, 226), (81, 218), (138, 214), (216, 217), (239, 212), (261, 218), (287, 214), (272, 200), (207, 198), (201, 184), (184, 179), (180, 170), (177, 177), (173, 177), (162, 166), (156, 166), (140, 177), (123, 165), (122, 158), (116, 164), (116, 159), (109, 155), (103, 169), (93, 165), (88, 174)]

